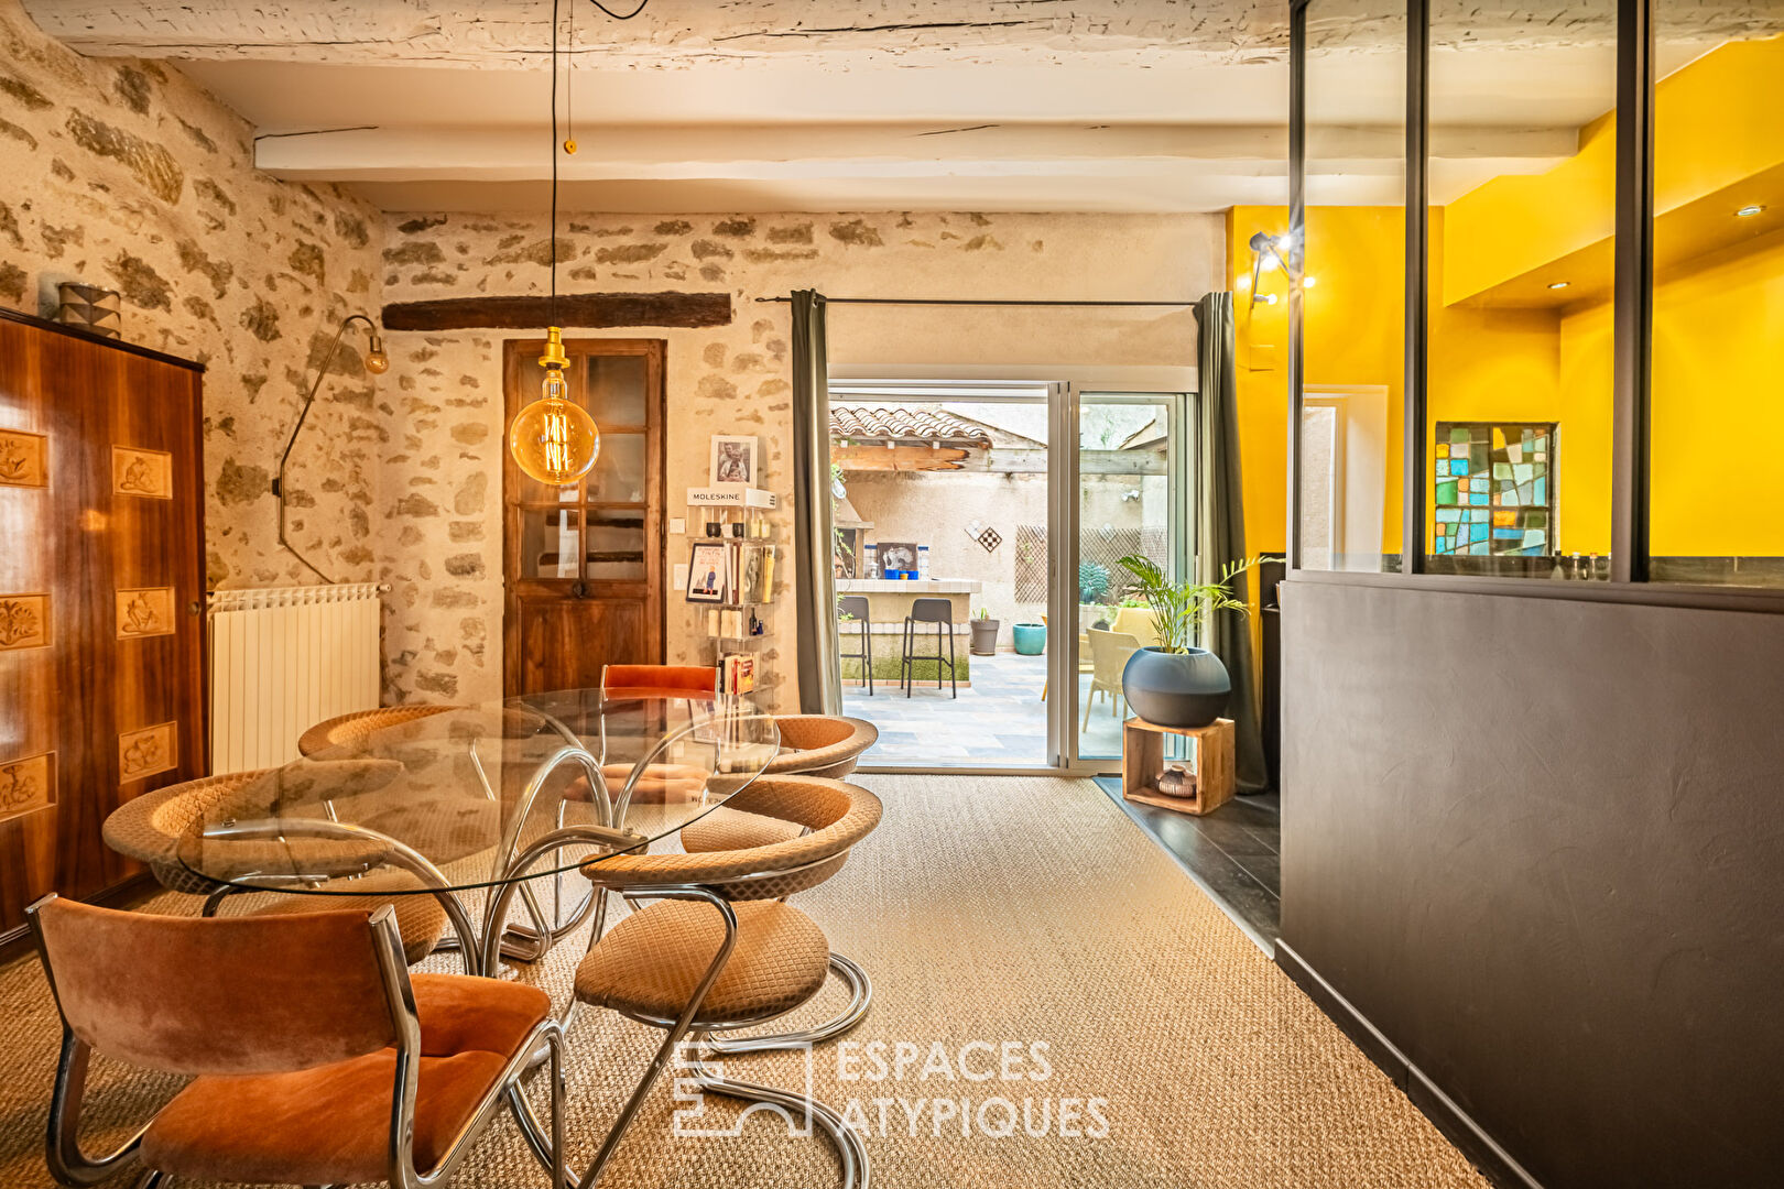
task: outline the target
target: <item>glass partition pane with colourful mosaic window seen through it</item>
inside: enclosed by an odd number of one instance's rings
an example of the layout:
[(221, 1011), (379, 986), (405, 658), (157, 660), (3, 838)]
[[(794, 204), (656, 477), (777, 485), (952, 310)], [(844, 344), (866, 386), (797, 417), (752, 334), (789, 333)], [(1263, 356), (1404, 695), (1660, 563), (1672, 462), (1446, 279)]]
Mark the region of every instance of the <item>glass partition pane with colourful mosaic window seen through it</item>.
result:
[(1616, 2), (1431, 7), (1425, 569), (1609, 579)]

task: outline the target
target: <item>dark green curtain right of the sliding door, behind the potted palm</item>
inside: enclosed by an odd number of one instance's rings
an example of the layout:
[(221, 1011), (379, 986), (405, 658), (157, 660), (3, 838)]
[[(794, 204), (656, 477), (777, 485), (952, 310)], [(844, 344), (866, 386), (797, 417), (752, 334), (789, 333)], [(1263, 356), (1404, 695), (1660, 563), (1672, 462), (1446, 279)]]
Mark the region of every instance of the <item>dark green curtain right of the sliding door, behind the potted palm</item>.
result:
[[(1220, 579), (1220, 570), (1245, 558), (1245, 504), (1240, 496), (1238, 394), (1233, 378), (1233, 294), (1211, 292), (1195, 303), (1199, 326), (1197, 376), (1201, 383), (1201, 431), (1197, 442), (1197, 581)], [(1245, 599), (1258, 581), (1256, 570), (1242, 574), (1235, 597)], [(1251, 624), (1235, 611), (1218, 611), (1206, 626), (1206, 647), (1233, 677), (1227, 715), (1238, 734), (1238, 790), (1261, 793), (1270, 786), (1270, 765), (1258, 726), (1258, 665), (1251, 651)]]

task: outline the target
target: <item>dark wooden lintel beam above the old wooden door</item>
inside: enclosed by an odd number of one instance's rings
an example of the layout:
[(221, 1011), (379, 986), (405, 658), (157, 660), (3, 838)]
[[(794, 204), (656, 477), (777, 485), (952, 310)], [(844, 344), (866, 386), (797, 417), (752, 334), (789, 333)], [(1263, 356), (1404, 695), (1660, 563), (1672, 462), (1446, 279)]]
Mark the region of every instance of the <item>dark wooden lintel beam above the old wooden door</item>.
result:
[[(541, 330), (549, 298), (435, 298), (384, 307), (385, 330)], [(730, 326), (728, 292), (566, 292), (557, 323), (566, 330), (610, 326)]]

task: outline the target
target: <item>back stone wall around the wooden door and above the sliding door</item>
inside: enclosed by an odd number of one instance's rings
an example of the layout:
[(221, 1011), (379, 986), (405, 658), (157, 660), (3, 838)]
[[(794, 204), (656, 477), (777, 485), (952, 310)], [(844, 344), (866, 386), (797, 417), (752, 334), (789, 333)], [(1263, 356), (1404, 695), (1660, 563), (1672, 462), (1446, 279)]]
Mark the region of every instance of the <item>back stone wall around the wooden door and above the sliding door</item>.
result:
[[(542, 294), (546, 219), (398, 214), (385, 219), (387, 301)], [(558, 226), (560, 292), (730, 292), (733, 323), (710, 330), (567, 330), (566, 337), (667, 342), (667, 517), (703, 485), (714, 433), (755, 433), (764, 485), (781, 496), (790, 554), (790, 314), (756, 298), (831, 296), (1193, 299), (1222, 275), (1218, 216), (760, 214), (583, 216)], [(391, 701), (501, 693), (501, 349), (526, 332), (392, 333), (384, 378), (380, 578)], [(1186, 308), (831, 307), (833, 364), (1193, 365)], [(665, 542), (685, 562), (689, 540)], [(789, 558), (790, 560), (790, 558)], [(794, 699), (790, 567), (769, 615), (765, 695)], [(710, 663), (696, 615), (667, 592), (671, 661)]]

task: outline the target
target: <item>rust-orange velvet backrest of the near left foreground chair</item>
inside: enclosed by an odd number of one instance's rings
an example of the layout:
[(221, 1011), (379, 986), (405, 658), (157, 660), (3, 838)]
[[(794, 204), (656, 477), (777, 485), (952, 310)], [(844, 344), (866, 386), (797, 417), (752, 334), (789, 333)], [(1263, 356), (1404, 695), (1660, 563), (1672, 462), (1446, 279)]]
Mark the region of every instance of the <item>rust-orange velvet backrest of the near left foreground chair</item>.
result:
[(282, 1073), (398, 1043), (378, 931), (368, 913), (152, 916), (48, 898), (30, 909), (70, 1030), (146, 1070)]

